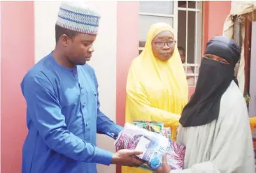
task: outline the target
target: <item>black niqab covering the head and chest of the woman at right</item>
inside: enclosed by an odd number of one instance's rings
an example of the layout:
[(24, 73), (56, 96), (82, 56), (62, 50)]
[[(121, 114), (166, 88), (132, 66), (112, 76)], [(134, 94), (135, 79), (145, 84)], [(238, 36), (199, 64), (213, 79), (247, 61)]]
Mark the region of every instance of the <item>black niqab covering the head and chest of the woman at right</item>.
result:
[(183, 127), (202, 126), (218, 119), (223, 93), (232, 80), (237, 82), (234, 67), (239, 61), (241, 49), (234, 40), (216, 36), (207, 43), (205, 54), (222, 57), (230, 64), (201, 59), (196, 89), (180, 118)]

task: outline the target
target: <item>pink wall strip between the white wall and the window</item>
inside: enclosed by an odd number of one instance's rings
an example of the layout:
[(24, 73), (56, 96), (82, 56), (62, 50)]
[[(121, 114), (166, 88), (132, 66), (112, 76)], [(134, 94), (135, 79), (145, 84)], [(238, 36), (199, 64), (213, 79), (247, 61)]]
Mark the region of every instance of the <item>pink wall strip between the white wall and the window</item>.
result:
[[(129, 66), (138, 56), (138, 1), (118, 1), (116, 122), (125, 124), (125, 87)], [(121, 172), (119, 166), (117, 173)]]

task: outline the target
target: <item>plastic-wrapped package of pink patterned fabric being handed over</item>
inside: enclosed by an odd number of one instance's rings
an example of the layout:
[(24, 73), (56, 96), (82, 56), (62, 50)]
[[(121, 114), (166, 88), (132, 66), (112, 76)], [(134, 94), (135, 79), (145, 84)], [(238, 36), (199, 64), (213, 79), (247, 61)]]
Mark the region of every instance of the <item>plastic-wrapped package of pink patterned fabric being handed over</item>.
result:
[(141, 168), (152, 171), (162, 165), (162, 156), (167, 154), (167, 163), (172, 170), (181, 170), (184, 165), (185, 146), (164, 137), (161, 134), (150, 132), (131, 123), (125, 123), (125, 128), (115, 141), (120, 149), (143, 151), (138, 158), (145, 160), (148, 165)]

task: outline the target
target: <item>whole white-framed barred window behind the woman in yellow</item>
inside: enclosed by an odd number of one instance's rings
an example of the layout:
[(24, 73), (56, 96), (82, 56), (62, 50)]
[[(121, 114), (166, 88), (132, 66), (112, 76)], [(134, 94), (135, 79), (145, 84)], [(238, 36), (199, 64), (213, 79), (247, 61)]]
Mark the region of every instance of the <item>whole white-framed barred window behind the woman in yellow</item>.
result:
[(148, 30), (155, 22), (166, 22), (173, 27), (177, 46), (183, 47), (183, 66), (187, 82), (197, 82), (201, 61), (201, 1), (139, 1), (139, 53), (145, 46)]

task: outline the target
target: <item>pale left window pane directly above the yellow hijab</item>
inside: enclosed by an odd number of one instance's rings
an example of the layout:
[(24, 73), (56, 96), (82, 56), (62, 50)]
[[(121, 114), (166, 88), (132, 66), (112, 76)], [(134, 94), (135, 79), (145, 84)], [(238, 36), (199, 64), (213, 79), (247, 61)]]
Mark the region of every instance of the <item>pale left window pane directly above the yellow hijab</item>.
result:
[(177, 32), (178, 1), (139, 1), (139, 3), (139, 53), (141, 53), (148, 30), (155, 22), (166, 22)]

